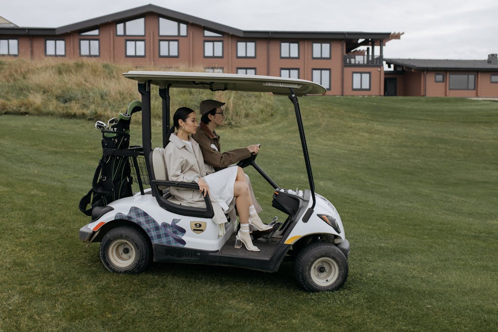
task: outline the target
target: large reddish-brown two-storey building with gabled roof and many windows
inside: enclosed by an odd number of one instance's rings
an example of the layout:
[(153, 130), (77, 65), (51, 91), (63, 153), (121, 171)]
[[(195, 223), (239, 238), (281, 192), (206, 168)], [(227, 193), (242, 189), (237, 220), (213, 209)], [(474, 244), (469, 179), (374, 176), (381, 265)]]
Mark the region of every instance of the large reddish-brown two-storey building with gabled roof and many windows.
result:
[(326, 87), (327, 95), (382, 96), (383, 48), (400, 36), (245, 31), (148, 4), (58, 28), (0, 25), (0, 57), (202, 66), (211, 72), (310, 80)]

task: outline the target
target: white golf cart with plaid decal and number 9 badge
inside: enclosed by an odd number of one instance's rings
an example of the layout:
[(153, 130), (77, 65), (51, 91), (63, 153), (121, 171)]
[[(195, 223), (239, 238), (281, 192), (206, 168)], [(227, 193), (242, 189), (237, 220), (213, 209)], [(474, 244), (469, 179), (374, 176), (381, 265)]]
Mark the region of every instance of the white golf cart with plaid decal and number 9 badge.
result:
[[(324, 87), (305, 80), (255, 75), (153, 71), (130, 71), (123, 75), (138, 83), (138, 92), (142, 98), (143, 146), (107, 149), (107, 152), (104, 149), (104, 154), (130, 158), (140, 192), (93, 207), (91, 222), (80, 229), (82, 241), (101, 242), (100, 256), (107, 269), (116, 273), (137, 273), (151, 261), (156, 261), (276, 272), (284, 260), (292, 260), (297, 282), (309, 292), (335, 290), (344, 284), (348, 277), (350, 244), (334, 206), (315, 193), (297, 100), (298, 96), (306, 94), (322, 94), (325, 92)], [(162, 99), (162, 146), (155, 148), (151, 143), (150, 103), (151, 88), (154, 86), (158, 87)], [(272, 207), (287, 216), (283, 222), (272, 221), (274, 227), (268, 234), (261, 236), (253, 231), (253, 241), (260, 249), (259, 252), (234, 247), (236, 221), (227, 222), (225, 235), (218, 235), (219, 228), (212, 221), (214, 214), (208, 196), (205, 198), (205, 208), (176, 205), (168, 200), (171, 197), (169, 187), (199, 189), (195, 183), (167, 179), (164, 147), (168, 143), (170, 127), (171, 88), (271, 92), (287, 95), (292, 102), (309, 190), (281, 188), (256, 164), (256, 155), (238, 164), (241, 167), (254, 167), (272, 187)], [(106, 132), (109, 131), (112, 132)], [(144, 189), (146, 184), (150, 184), (150, 188)]]

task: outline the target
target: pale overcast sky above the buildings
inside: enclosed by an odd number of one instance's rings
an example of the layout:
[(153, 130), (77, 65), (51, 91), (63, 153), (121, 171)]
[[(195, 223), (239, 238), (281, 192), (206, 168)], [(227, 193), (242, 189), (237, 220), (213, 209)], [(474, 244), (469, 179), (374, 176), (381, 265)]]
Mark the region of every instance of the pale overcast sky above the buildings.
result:
[(242, 30), (404, 32), (386, 58), (498, 53), (498, 0), (0, 0), (0, 16), (55, 28), (148, 3)]

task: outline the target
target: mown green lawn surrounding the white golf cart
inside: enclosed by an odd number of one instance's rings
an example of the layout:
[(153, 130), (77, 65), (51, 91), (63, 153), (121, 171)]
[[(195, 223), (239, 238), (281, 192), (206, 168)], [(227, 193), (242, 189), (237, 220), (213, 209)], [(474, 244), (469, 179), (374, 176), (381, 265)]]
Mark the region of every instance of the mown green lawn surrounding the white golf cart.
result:
[[(498, 330), (498, 103), (299, 102), (316, 191), (351, 242), (343, 288), (308, 294), (291, 263), (272, 274), (165, 263), (108, 272), (98, 244), (78, 238), (100, 132), (2, 115), (0, 331)], [(306, 189), (292, 105), (276, 97), (275, 108), (266, 123), (220, 130), (222, 148), (261, 143), (257, 162), (273, 180)], [(132, 123), (132, 144), (139, 130)], [(272, 189), (248, 173), (269, 220)]]

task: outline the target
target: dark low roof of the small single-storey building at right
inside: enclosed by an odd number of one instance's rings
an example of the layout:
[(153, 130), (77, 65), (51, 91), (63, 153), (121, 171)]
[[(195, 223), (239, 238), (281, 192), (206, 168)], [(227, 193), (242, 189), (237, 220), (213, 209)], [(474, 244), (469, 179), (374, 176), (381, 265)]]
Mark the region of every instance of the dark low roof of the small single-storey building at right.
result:
[(437, 59), (384, 59), (388, 64), (418, 70), (491, 70), (498, 71), (498, 64), (488, 60), (437, 60)]

